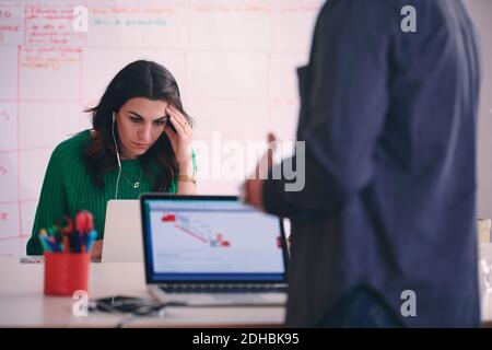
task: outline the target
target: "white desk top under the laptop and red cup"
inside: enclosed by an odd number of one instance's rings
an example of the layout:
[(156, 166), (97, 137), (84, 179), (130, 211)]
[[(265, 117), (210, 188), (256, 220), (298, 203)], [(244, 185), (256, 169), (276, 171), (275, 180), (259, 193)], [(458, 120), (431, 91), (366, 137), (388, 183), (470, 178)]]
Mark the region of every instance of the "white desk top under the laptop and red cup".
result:
[[(120, 315), (72, 314), (71, 298), (43, 294), (43, 264), (0, 258), (0, 327), (115, 327)], [(124, 294), (148, 296), (142, 264), (91, 264), (90, 299)], [(139, 317), (129, 327), (281, 326), (283, 307), (169, 307), (163, 317)]]

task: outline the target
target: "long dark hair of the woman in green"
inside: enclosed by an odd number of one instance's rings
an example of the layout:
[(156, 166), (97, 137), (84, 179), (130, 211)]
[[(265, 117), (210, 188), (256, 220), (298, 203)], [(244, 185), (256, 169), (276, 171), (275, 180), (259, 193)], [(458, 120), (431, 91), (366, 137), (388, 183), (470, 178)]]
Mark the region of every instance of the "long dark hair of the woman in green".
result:
[[(194, 120), (183, 109), (178, 85), (167, 69), (145, 60), (129, 63), (113, 78), (99, 103), (95, 107), (85, 109), (92, 113), (92, 125), (96, 132), (92, 137), (92, 142), (83, 151), (83, 160), (87, 172), (99, 187), (105, 186), (104, 173), (118, 168), (113, 141), (113, 113), (118, 112), (128, 100), (134, 97), (171, 103), (191, 126), (194, 125)], [(117, 128), (115, 128), (115, 137), (119, 142)], [(153, 189), (166, 190), (178, 167), (173, 147), (165, 132), (139, 160), (144, 176), (149, 178), (151, 177), (150, 161), (155, 161), (160, 172), (153, 179)]]

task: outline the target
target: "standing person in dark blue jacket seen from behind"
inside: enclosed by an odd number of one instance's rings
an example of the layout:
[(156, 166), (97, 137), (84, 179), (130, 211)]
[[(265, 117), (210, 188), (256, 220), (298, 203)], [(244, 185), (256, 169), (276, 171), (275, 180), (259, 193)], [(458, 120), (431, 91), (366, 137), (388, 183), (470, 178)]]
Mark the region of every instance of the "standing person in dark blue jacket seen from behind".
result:
[[(405, 5), (417, 33), (401, 31)], [(478, 66), (459, 0), (325, 4), (300, 71), (306, 185), (263, 191), (292, 218), (288, 326), (324, 325), (360, 285), (400, 317), (414, 295), (409, 326), (479, 324)]]

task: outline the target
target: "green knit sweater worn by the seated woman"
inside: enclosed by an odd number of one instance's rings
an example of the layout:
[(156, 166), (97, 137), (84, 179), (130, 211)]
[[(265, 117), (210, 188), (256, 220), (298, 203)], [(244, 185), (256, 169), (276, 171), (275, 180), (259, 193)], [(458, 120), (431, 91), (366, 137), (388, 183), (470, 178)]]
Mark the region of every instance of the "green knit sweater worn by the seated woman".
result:
[[(43, 182), (33, 233), (27, 242), (27, 255), (43, 254), (38, 238), (40, 229), (52, 225), (66, 214), (73, 218), (79, 210), (89, 210), (94, 215), (94, 229), (98, 238), (103, 238), (106, 203), (115, 198), (118, 170), (104, 174), (104, 189), (96, 187), (82, 159), (82, 152), (89, 142), (91, 131), (84, 130), (58, 144), (52, 152)], [(196, 168), (195, 153), (192, 161)], [(151, 172), (156, 175), (159, 168), (151, 166)], [(151, 179), (141, 174), (139, 160), (121, 161), (118, 199), (138, 199), (140, 194), (153, 191)], [(133, 188), (132, 183), (137, 182), (139, 176), (140, 186)], [(169, 184), (167, 191), (175, 194), (176, 189), (177, 176)]]

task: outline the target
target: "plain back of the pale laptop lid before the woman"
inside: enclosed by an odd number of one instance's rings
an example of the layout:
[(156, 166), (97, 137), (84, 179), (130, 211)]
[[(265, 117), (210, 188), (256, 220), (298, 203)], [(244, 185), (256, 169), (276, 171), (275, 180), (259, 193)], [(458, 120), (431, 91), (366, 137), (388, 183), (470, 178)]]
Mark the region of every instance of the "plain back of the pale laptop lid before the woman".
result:
[(139, 200), (112, 199), (106, 206), (102, 262), (142, 262)]

